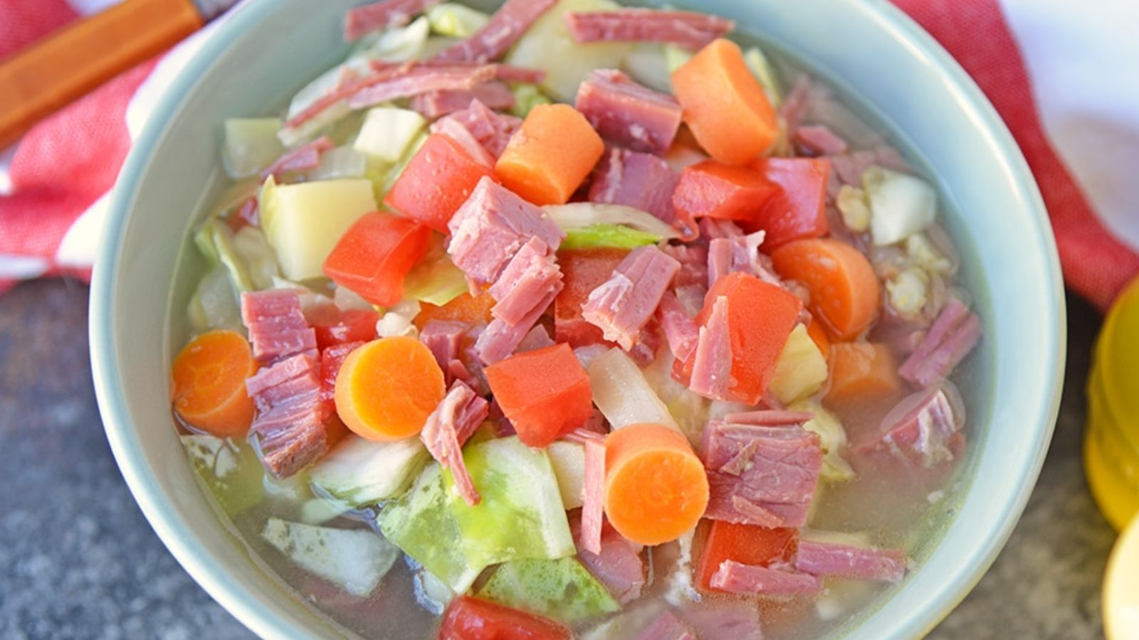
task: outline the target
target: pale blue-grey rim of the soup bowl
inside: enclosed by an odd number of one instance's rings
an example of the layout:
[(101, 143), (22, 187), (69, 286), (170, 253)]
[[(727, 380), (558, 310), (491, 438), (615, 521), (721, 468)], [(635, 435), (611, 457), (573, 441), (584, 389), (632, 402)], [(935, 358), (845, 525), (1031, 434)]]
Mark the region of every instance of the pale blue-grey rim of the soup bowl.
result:
[[(1021, 478), (1019, 485), (1008, 497), (999, 522), (990, 524), (984, 535), (978, 536), (966, 549), (961, 568), (936, 591), (926, 594), (925, 600), (932, 606), (891, 620), (885, 623), (885, 629), (876, 632), (879, 638), (911, 638), (932, 631), (965, 599), (995, 560), (1019, 520), (1043, 465), (1059, 411), (1067, 327), (1063, 278), (1051, 225), (1035, 180), (1005, 122), (957, 60), (901, 9), (887, 0), (863, 0), (862, 5), (868, 19), (877, 28), (933, 60), (939, 72), (944, 74), (948, 90), (959, 97), (960, 107), (972, 115), (977, 129), (999, 150), (1000, 162), (1007, 165), (1013, 177), (1013, 189), (1024, 197), (1026, 208), (1033, 210), (1032, 213), (1038, 219), (1039, 223), (1033, 227), (1029, 239), (1033, 240), (1031, 244), (1034, 245), (1035, 253), (1046, 262), (1046, 277), (1051, 284), (1046, 302), (1056, 312), (1055, 322), (1046, 323), (1043, 329), (1044, 336), (1051, 338), (1043, 345), (1046, 361), (1052, 363), (1051, 370), (1044, 374), (1048, 380), (1048, 401), (1035, 407), (1031, 418), (1025, 420), (1041, 427), (1031, 453), (1022, 458), (1019, 469), (1013, 474), (1013, 477)], [(92, 272), (89, 340), (96, 397), (107, 440), (123, 478), (150, 526), (194, 580), (245, 626), (261, 637), (294, 638), (300, 637), (297, 630), (276, 615), (262, 593), (229, 580), (228, 568), (212, 557), (204, 542), (180, 527), (183, 517), (158, 489), (154, 470), (145, 463), (146, 452), (131, 434), (131, 420), (121, 392), (122, 363), (114, 347), (115, 317), (112, 305), (112, 301), (116, 300), (114, 294), (120, 270), (118, 249), (128, 214), (156, 142), (165, 131), (163, 118), (154, 117), (154, 114), (175, 110), (224, 48), (263, 19), (272, 10), (272, 6), (269, 1), (251, 0), (226, 16), (223, 24), (216, 25), (214, 32), (205, 38), (200, 48), (165, 88), (155, 104), (151, 117), (134, 140), (110, 196), (106, 227)], [(954, 526), (956, 523), (949, 528)], [(870, 615), (870, 618), (877, 617), (877, 614)], [(880, 620), (878, 622), (882, 623)], [(859, 631), (855, 630), (853, 635), (860, 635)]]

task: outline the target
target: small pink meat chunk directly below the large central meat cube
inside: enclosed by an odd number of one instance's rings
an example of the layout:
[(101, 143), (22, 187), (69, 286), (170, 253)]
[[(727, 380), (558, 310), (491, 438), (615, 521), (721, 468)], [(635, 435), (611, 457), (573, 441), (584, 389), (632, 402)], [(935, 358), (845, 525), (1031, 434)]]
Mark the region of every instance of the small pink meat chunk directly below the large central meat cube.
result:
[(548, 297), (550, 292), (557, 294), (562, 287), (562, 270), (550, 248), (540, 238), (531, 238), (491, 285), (491, 297), (497, 301), (491, 314), (507, 325), (517, 325), (533, 312), (535, 301)]

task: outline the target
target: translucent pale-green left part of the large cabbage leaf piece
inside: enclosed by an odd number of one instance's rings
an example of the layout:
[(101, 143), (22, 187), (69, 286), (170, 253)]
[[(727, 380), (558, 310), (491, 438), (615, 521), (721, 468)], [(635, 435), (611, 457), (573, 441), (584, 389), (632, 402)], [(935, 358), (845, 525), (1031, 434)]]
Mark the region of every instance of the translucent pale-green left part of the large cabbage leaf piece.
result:
[(456, 593), (469, 589), (486, 566), (469, 564), (462, 552), (459, 526), (435, 462), (424, 468), (410, 491), (384, 506), (378, 522), (384, 538)]

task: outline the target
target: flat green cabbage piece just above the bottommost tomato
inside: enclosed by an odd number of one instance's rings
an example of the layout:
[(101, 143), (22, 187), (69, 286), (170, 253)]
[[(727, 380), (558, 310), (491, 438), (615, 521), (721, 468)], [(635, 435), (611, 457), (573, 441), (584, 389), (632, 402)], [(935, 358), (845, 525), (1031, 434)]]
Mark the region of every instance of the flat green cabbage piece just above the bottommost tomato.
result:
[(505, 563), (475, 594), (566, 624), (620, 608), (605, 585), (577, 558)]

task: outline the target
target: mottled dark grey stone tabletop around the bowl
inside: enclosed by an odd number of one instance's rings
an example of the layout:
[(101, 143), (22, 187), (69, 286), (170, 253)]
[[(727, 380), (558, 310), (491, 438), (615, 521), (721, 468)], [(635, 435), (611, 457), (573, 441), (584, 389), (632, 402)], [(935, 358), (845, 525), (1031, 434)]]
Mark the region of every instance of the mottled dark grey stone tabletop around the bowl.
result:
[[(178, 566), (123, 484), (91, 387), (87, 295), (48, 280), (0, 297), (0, 638), (247, 638)], [(992, 571), (932, 638), (1101, 635), (1114, 534), (1080, 461), (1099, 320), (1079, 301), (1070, 306), (1068, 378), (1040, 484)]]

